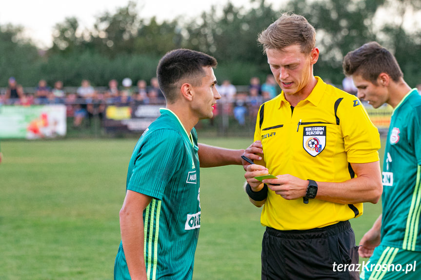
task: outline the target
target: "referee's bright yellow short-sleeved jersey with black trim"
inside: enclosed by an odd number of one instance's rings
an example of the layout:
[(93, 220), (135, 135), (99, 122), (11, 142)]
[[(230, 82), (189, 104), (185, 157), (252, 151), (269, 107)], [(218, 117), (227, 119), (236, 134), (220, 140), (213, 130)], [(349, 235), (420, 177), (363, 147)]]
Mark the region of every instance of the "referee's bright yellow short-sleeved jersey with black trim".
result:
[[(273, 175), (303, 180), (343, 182), (355, 177), (349, 163), (379, 160), (379, 131), (360, 100), (320, 77), (310, 95), (291, 106), (282, 92), (261, 105), (254, 140), (261, 140), (263, 161)], [(261, 224), (279, 230), (310, 229), (336, 224), (362, 214), (360, 204), (310, 199), (285, 200), (268, 190)]]

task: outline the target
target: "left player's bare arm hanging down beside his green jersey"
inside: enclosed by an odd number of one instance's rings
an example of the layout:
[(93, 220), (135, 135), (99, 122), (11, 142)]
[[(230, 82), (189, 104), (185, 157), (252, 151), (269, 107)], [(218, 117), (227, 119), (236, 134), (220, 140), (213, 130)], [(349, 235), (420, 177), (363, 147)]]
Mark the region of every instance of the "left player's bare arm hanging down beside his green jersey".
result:
[(143, 210), (151, 200), (147, 195), (127, 190), (120, 210), (121, 241), (132, 280), (147, 279), (143, 257)]

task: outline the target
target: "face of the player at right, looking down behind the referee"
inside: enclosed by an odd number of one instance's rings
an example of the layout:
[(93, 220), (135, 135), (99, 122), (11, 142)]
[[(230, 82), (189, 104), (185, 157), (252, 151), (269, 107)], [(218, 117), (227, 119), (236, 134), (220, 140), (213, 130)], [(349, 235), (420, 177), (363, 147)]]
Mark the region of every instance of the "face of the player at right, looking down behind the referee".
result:
[(387, 90), (381, 83), (377, 85), (367, 81), (359, 74), (352, 75), (354, 85), (357, 87), (357, 96), (368, 102), (374, 108), (379, 108), (387, 102)]

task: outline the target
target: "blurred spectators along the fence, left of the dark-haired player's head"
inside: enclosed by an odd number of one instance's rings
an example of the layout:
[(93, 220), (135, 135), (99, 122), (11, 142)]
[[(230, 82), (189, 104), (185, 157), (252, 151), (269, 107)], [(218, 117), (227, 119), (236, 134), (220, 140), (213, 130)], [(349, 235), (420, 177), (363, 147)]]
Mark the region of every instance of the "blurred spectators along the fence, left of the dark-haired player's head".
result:
[(0, 105), (64, 104), (67, 117), (73, 117), (73, 126), (80, 127), (84, 119), (90, 122), (94, 116), (102, 121), (107, 105), (165, 104), (156, 77), (150, 80), (149, 86), (145, 80), (139, 80), (136, 86), (132, 83), (130, 78), (124, 78), (119, 86), (119, 82), (112, 79), (107, 88), (94, 88), (89, 80), (84, 79), (80, 87), (69, 90), (63, 88), (61, 81), (56, 81), (51, 88), (45, 80), (40, 80), (35, 92), (25, 93), (16, 79), (10, 77), (5, 93), (0, 95)]

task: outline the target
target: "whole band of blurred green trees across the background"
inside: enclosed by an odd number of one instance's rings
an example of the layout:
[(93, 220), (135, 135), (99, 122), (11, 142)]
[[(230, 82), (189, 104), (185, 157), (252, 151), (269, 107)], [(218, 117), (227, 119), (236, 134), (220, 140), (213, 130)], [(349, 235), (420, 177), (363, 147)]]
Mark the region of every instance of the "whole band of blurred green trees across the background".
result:
[(341, 84), (343, 56), (363, 43), (377, 40), (395, 54), (411, 87), (420, 83), (421, 28), (417, 24), (421, 0), (290, 0), (275, 10), (264, 0), (249, 5), (213, 6), (195, 19), (158, 22), (140, 18), (136, 2), (114, 14), (104, 12), (91, 30), (81, 30), (76, 17), (56, 24), (54, 44), (40, 51), (22, 27), (0, 26), (0, 87), (15, 76), (24, 87), (40, 79), (49, 85), (79, 86), (83, 78), (94, 86), (110, 79), (149, 81), (159, 58), (175, 48), (190, 48), (215, 56), (216, 75), (235, 85), (246, 85), (251, 76), (264, 80), (270, 74), (266, 57), (256, 41), (258, 33), (282, 12), (305, 16), (317, 31), (321, 56), (315, 74)]

